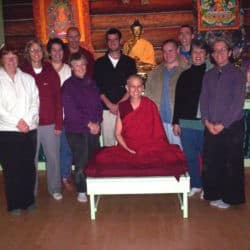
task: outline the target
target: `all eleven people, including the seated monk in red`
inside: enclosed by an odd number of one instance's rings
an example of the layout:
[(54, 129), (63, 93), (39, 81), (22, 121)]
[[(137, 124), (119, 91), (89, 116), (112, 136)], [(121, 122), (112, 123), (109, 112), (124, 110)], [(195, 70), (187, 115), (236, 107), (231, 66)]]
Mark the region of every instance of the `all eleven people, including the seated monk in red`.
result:
[(121, 36), (109, 29), (107, 52), (96, 61), (80, 46), (76, 27), (67, 30), (67, 44), (52, 38), (46, 51), (39, 40), (29, 41), (21, 67), (15, 49), (1, 49), (0, 164), (12, 214), (36, 209), (40, 145), (51, 196), (63, 198), (62, 183), (72, 189), (74, 164), (77, 200), (86, 202), (84, 169), (100, 134), (107, 147), (96, 154), (101, 163), (136, 167), (186, 158), (190, 196), (203, 190), (203, 198), (219, 208), (245, 202), (245, 79), (230, 63), (230, 45), (214, 42), (215, 66), (208, 69), (205, 42), (184, 25), (180, 45), (163, 43), (163, 62), (144, 82), (136, 75), (137, 61), (122, 52)]

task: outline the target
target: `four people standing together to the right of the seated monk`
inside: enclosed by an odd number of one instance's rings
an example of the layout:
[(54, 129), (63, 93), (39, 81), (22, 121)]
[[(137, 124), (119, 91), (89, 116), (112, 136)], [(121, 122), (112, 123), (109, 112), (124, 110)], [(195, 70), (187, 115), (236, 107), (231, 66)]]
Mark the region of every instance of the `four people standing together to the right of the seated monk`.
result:
[(145, 94), (158, 105), (169, 142), (183, 148), (189, 196), (200, 193), (221, 209), (244, 203), (244, 70), (231, 63), (224, 39), (208, 48), (183, 26), (179, 41), (163, 43), (163, 63), (149, 73)]

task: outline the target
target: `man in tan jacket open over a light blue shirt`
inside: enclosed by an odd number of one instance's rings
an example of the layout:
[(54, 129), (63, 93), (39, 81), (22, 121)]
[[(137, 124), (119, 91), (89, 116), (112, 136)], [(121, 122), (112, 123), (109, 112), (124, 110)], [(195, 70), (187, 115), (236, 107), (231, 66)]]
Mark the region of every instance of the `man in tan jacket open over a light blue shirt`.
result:
[(173, 39), (162, 45), (163, 62), (149, 74), (145, 94), (158, 106), (169, 143), (181, 146), (180, 137), (173, 134), (172, 118), (177, 80), (187, 65), (179, 60), (178, 45)]

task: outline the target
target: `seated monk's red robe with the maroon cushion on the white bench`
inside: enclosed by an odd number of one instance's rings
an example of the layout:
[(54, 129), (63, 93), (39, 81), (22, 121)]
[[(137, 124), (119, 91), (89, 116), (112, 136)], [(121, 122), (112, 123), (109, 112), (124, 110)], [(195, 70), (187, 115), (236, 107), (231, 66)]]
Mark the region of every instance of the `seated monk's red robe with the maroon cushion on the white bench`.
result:
[(129, 100), (119, 104), (122, 136), (132, 154), (122, 146), (101, 149), (87, 167), (89, 176), (155, 176), (179, 177), (187, 170), (184, 154), (169, 144), (156, 105), (142, 97), (133, 110)]

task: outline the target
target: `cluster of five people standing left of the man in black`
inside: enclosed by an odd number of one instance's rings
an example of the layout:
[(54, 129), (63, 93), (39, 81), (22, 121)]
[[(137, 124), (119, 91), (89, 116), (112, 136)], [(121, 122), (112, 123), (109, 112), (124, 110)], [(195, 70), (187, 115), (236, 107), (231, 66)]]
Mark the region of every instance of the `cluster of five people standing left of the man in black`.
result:
[(68, 179), (74, 163), (77, 199), (86, 201), (82, 168), (99, 145), (102, 105), (93, 55), (80, 47), (76, 27), (68, 29), (67, 39), (67, 45), (50, 39), (47, 50), (41, 41), (29, 41), (20, 67), (14, 48), (1, 49), (0, 163), (7, 209), (14, 215), (36, 209), (40, 146), (51, 196), (63, 198), (62, 183), (72, 189)]

